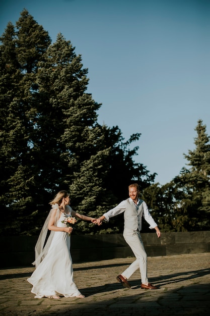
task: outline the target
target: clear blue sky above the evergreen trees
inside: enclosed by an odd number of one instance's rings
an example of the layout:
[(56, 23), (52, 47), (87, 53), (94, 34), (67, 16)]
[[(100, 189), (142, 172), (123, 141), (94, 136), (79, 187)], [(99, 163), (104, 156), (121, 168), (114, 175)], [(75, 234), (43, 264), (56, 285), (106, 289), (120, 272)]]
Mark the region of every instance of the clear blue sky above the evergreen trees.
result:
[(198, 119), (210, 134), (210, 1), (1, 0), (0, 34), (24, 8), (52, 42), (60, 32), (82, 55), (98, 122), (125, 140), (142, 134), (134, 160), (156, 182), (177, 176)]

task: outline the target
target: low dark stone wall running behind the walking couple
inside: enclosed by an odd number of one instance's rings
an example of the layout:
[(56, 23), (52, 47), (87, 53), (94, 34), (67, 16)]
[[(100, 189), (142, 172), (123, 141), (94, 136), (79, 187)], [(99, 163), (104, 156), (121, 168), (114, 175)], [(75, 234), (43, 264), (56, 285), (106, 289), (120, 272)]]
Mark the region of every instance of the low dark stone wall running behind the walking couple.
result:
[[(210, 232), (143, 233), (148, 256), (210, 252)], [(36, 236), (0, 237), (0, 267), (31, 266), (34, 260)], [(133, 253), (121, 234), (72, 235), (73, 262), (132, 257)]]

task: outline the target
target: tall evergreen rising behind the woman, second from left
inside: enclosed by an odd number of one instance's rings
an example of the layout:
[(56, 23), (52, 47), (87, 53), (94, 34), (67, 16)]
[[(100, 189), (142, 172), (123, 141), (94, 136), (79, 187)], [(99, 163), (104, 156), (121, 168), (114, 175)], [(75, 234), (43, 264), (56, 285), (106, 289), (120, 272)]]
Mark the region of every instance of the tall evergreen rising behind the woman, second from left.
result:
[[(81, 56), (74, 50), (71, 42), (58, 34), (38, 65), (37, 159), (45, 189), (70, 188), (73, 207), (93, 215), (102, 199), (101, 169), (109, 148), (99, 151), (102, 137), (96, 111), (100, 104), (85, 92), (87, 69), (82, 68)], [(50, 161), (46, 163), (47, 158)], [(78, 225), (79, 231), (84, 226), (89, 232), (85, 223)]]

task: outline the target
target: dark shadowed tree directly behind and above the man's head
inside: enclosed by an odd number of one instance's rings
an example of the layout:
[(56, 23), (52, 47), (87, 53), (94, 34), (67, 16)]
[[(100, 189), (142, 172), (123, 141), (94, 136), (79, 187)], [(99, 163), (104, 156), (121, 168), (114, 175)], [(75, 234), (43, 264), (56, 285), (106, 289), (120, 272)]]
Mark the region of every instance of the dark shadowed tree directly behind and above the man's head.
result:
[(114, 179), (116, 181), (115, 196), (118, 201), (121, 201), (128, 195), (130, 182), (137, 182), (141, 190), (143, 190), (154, 182), (156, 173), (150, 174), (143, 164), (133, 162), (133, 156), (137, 155), (138, 146), (130, 147), (133, 142), (139, 139), (140, 133), (131, 135), (125, 141), (118, 126), (113, 126), (112, 128), (103, 126), (102, 128), (104, 134), (103, 143), (107, 148), (111, 148), (108, 157), (109, 169), (106, 177), (106, 187), (109, 187)]

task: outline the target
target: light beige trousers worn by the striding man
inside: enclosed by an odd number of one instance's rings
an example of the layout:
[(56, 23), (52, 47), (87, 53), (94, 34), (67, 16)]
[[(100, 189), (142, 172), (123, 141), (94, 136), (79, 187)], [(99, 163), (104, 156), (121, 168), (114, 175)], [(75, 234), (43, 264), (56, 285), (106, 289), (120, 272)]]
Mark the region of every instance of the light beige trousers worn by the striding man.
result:
[(122, 275), (129, 279), (130, 276), (139, 268), (143, 284), (148, 284), (147, 277), (147, 253), (142, 241), (139, 231), (125, 228), (123, 237), (126, 243), (130, 246), (136, 260), (122, 273)]

